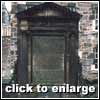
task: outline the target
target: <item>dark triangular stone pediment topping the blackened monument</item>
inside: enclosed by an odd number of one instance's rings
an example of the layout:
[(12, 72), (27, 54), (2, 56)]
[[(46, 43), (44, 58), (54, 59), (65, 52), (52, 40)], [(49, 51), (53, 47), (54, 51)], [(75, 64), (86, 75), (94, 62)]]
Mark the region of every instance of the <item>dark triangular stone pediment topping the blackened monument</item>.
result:
[(77, 12), (72, 12), (66, 7), (62, 7), (53, 2), (46, 2), (40, 5), (36, 5), (25, 11), (16, 14), (18, 18), (22, 17), (37, 17), (37, 16), (59, 16), (59, 17), (73, 17), (80, 19), (80, 14)]

